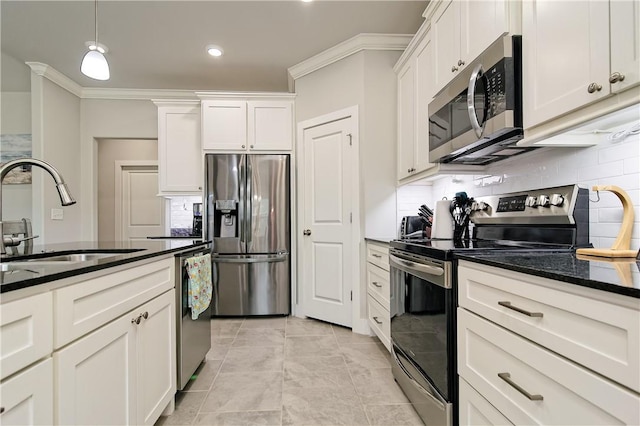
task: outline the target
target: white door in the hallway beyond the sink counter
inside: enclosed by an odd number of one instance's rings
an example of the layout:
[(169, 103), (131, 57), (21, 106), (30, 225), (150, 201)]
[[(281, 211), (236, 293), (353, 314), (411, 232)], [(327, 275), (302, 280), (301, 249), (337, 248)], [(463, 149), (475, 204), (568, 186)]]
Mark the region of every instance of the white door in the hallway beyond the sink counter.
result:
[(157, 164), (116, 164), (116, 241), (165, 235)]

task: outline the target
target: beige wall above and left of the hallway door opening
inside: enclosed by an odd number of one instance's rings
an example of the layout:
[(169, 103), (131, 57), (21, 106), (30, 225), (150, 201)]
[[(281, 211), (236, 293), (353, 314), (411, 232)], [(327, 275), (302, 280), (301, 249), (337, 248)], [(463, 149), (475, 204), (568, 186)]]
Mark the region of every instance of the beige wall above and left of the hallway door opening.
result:
[(96, 139), (157, 139), (158, 110), (149, 100), (83, 99), (81, 105), (82, 239), (98, 238)]

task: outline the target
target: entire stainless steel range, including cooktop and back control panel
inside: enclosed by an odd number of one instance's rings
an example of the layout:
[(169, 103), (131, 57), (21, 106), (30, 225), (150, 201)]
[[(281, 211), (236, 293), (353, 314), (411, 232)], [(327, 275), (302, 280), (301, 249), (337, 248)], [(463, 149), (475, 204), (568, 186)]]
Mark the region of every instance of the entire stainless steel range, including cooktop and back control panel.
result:
[(458, 423), (458, 256), (589, 244), (589, 193), (576, 185), (474, 201), (473, 238), (401, 239), (389, 249), (393, 376), (427, 425)]

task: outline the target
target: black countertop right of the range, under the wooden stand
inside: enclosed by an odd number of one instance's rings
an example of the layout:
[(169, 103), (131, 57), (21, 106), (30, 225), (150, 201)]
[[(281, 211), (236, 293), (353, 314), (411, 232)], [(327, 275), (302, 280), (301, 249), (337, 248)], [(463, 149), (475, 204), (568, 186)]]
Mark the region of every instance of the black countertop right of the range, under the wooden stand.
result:
[(456, 254), (461, 260), (482, 263), (550, 278), (583, 287), (640, 298), (640, 261), (608, 260), (562, 253)]

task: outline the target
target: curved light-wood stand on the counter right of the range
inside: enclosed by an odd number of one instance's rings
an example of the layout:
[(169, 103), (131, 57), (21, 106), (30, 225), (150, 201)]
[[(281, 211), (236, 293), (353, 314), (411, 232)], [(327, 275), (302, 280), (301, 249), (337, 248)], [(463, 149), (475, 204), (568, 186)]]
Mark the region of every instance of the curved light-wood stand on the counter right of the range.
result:
[(582, 254), (587, 256), (597, 257), (636, 257), (637, 250), (631, 250), (631, 231), (633, 229), (633, 204), (631, 204), (631, 198), (624, 189), (618, 186), (594, 186), (591, 188), (593, 191), (611, 191), (618, 196), (622, 202), (622, 225), (618, 232), (618, 237), (613, 242), (610, 249), (600, 248), (579, 248), (576, 250), (576, 254)]

